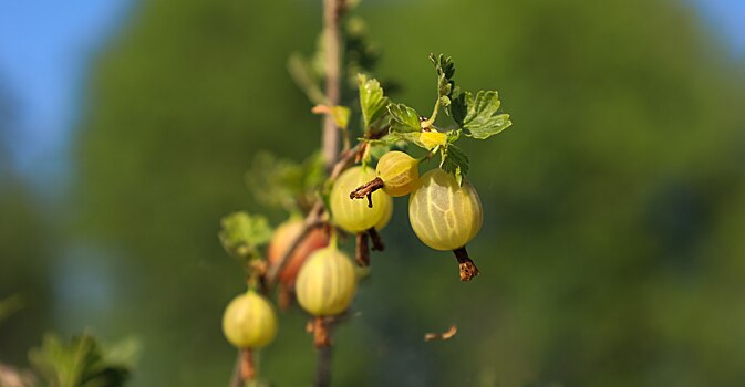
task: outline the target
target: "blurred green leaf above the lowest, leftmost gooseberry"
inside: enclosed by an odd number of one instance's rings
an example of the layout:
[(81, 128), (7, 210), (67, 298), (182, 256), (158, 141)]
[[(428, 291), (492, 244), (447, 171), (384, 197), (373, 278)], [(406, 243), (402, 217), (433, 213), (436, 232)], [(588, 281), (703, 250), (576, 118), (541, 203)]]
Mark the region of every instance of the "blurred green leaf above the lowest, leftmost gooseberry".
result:
[(225, 250), (236, 259), (248, 261), (260, 258), (258, 248), (269, 242), (272, 229), (267, 218), (247, 212), (234, 212), (220, 220), (219, 232)]

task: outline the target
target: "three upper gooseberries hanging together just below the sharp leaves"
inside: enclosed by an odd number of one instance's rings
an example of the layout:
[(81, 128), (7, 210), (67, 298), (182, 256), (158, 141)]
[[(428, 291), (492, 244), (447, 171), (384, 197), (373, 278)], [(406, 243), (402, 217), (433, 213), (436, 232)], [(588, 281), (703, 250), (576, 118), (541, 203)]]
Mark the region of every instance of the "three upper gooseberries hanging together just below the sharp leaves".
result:
[[(408, 154), (392, 150), (380, 158), (374, 172), (363, 167), (348, 169), (331, 191), (333, 218), (349, 232), (372, 236), (390, 219), (391, 197), (408, 195), (408, 220), (416, 237), (432, 249), (454, 251), (461, 280), (470, 281), (478, 275), (478, 269), (468, 258), (466, 243), (476, 237), (484, 219), (478, 194), (470, 182), (461, 185), (453, 174), (441, 168), (420, 177), (418, 165), (420, 160)], [(368, 199), (366, 205), (350, 201), (362, 198)], [(365, 244), (358, 243), (358, 255), (364, 257), (360, 247), (364, 249)]]

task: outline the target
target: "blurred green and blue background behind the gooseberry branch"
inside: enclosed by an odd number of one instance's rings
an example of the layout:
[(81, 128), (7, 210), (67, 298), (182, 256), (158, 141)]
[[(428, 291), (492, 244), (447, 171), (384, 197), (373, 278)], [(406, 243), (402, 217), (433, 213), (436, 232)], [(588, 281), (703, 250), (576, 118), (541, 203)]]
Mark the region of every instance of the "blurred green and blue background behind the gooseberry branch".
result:
[[(261, 211), (244, 174), (319, 142), (287, 75), (310, 0), (18, 1), (0, 7), (0, 362), (46, 331), (143, 351), (133, 386), (215, 386), (242, 289), (219, 218)], [(745, 4), (362, 2), (376, 73), (426, 112), (431, 52), (514, 126), (466, 143), (486, 211), (457, 280), (396, 200), (338, 331), (338, 386), (741, 386), (745, 379)], [(272, 221), (283, 215), (270, 211)], [(262, 376), (310, 385), (298, 311)], [(425, 332), (457, 324), (448, 342)]]

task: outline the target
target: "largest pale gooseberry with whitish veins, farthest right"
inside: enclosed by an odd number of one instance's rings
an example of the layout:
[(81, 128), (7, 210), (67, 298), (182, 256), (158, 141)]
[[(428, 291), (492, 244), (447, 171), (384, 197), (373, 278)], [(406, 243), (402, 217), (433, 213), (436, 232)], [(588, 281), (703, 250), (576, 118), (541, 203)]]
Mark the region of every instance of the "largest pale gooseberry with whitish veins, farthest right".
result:
[(458, 186), (452, 174), (436, 168), (422, 175), (410, 196), (408, 219), (424, 244), (435, 250), (457, 250), (476, 237), (484, 215), (470, 182)]

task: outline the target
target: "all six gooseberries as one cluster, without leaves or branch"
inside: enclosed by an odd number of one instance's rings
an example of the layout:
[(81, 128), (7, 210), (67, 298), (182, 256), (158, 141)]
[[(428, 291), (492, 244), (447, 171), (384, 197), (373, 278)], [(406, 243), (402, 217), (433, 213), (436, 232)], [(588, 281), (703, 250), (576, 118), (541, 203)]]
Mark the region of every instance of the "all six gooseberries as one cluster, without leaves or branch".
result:
[[(377, 239), (376, 232), (391, 220), (392, 197), (408, 195), (408, 219), (418, 239), (435, 250), (452, 250), (458, 260), (461, 280), (478, 275), (465, 247), (479, 231), (482, 203), (468, 181), (457, 182), (453, 174), (434, 168), (418, 174), (420, 161), (392, 150), (383, 155), (377, 167), (355, 166), (342, 172), (329, 197), (333, 223), (358, 236), (360, 265), (369, 265), (366, 238)], [(366, 189), (369, 202), (355, 200)], [(374, 203), (374, 205), (373, 205)], [(297, 238), (302, 219), (292, 218), (280, 224), (268, 247), (268, 263), (273, 264)], [(364, 242), (361, 242), (364, 241)], [(374, 242), (373, 244), (377, 244)], [(373, 247), (375, 248), (375, 247)], [(379, 249), (381, 247), (377, 247)], [(294, 292), (299, 305), (315, 317), (315, 345), (329, 345), (323, 320), (344, 313), (356, 292), (358, 278), (351, 259), (337, 245), (335, 232), (313, 229), (307, 233), (278, 274), (280, 306), (287, 307)], [(225, 311), (223, 330), (227, 339), (238, 348), (258, 349), (277, 334), (277, 317), (269, 301), (255, 290), (235, 297)]]

